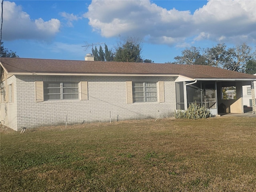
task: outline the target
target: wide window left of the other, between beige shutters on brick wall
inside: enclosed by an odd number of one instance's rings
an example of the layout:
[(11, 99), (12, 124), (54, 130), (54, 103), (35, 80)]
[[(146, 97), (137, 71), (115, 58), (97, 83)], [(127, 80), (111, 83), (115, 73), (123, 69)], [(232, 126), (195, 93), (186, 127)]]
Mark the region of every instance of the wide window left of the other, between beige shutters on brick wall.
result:
[(78, 82), (44, 82), (44, 100), (79, 99)]

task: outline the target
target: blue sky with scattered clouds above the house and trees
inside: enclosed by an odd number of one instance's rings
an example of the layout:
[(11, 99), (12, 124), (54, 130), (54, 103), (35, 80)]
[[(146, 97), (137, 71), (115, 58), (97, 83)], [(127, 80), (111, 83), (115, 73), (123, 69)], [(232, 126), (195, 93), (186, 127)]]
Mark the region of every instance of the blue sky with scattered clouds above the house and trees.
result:
[(155, 63), (174, 62), (190, 46), (256, 47), (255, 0), (4, 0), (3, 7), (2, 42), (21, 58), (84, 60), (91, 48), (82, 46), (114, 50), (119, 35), (141, 39), (143, 58)]

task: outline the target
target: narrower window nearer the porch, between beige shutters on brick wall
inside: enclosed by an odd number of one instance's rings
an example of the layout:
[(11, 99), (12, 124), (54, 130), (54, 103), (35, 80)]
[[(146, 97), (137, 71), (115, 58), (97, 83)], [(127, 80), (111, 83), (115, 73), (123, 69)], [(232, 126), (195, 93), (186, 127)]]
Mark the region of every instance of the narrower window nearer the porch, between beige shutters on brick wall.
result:
[(156, 82), (132, 82), (133, 102), (156, 102)]

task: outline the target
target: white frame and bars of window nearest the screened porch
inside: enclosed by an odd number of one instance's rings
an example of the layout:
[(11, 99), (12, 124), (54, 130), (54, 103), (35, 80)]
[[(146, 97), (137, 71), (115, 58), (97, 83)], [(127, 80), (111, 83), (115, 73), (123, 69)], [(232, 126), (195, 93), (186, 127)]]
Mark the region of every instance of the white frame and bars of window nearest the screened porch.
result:
[[(142, 86), (135, 86), (136, 84), (142, 84)], [(150, 86), (154, 84), (154, 86)], [(143, 91), (135, 92), (135, 88), (143, 88)], [(147, 90), (153, 88), (154, 90)], [(136, 93), (142, 94), (141, 96), (136, 96)], [(136, 101), (137, 98), (141, 98), (141, 101)], [(157, 102), (158, 101), (158, 91), (157, 82), (132, 82), (132, 99), (134, 103), (137, 102)]]

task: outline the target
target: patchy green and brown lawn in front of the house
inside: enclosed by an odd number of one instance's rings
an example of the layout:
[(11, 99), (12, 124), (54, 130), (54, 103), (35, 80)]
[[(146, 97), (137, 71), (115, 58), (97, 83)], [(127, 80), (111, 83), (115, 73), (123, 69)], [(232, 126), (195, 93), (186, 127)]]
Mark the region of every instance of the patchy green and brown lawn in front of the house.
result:
[(256, 118), (4, 129), (0, 139), (0, 191), (256, 191)]

